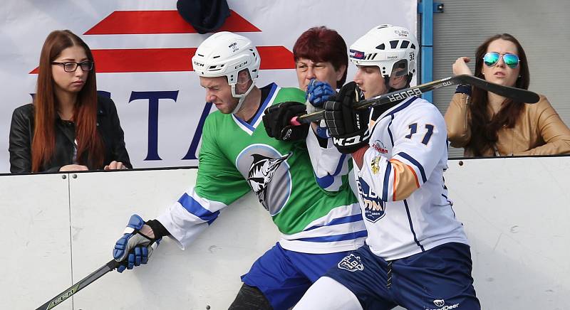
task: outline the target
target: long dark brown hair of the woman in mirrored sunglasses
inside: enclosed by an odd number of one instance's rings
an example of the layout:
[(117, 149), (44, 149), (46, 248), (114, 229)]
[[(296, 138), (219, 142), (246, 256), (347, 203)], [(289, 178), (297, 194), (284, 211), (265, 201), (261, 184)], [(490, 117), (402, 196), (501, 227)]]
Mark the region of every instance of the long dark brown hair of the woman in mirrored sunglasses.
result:
[[(510, 41), (517, 46), (517, 51), (520, 59), (520, 77), (514, 87), (527, 90), (529, 88), (530, 73), (529, 65), (527, 63), (527, 55), (524, 53), (519, 41), (509, 33), (502, 33), (494, 35), (484, 41), (477, 51), (475, 52), (475, 76), (484, 78), (482, 73), (483, 56), (487, 53), (489, 44), (495, 40), (503, 39)], [(524, 108), (524, 102), (515, 102), (506, 98), (502, 103), (502, 107), (493, 117), (489, 117), (487, 112), (487, 91), (473, 87), (472, 101), (471, 101), (471, 140), (465, 146), (470, 149), (475, 156), (482, 156), (485, 151), (492, 149), (494, 144), (497, 143), (497, 132), (502, 127), (512, 128), (519, 119)]]

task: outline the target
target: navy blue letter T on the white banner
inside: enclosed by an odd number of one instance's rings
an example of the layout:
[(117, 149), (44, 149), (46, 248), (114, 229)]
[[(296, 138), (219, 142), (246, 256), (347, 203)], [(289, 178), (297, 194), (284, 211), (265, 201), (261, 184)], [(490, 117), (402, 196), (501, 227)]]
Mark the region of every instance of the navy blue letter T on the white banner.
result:
[(178, 91), (163, 92), (131, 92), (129, 103), (133, 100), (148, 100), (148, 151), (145, 161), (160, 161), (158, 156), (158, 100), (172, 99), (176, 101)]

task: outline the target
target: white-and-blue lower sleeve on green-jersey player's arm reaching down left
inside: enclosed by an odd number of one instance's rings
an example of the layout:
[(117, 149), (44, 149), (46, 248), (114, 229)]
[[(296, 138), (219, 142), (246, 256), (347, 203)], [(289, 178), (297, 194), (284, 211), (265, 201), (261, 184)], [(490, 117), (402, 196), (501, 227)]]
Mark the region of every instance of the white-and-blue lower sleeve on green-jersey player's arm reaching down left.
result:
[(172, 203), (157, 220), (170, 232), (182, 250), (194, 241), (227, 207), (218, 201), (201, 198), (194, 186)]

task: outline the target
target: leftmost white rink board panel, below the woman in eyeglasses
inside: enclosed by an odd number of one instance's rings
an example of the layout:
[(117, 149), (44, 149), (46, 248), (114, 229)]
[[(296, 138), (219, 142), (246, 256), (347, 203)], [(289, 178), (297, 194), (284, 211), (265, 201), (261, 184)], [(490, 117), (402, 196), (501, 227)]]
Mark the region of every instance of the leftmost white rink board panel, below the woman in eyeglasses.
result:
[(60, 174), (0, 176), (0, 309), (36, 309), (71, 286), (68, 188)]

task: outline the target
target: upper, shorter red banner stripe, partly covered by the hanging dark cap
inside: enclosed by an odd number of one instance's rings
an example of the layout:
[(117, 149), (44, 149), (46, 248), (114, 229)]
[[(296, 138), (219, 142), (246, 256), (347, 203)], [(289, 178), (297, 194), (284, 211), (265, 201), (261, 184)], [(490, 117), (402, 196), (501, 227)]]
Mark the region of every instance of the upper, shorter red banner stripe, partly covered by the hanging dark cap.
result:
[[(230, 10), (229, 17), (218, 31), (259, 32), (261, 30)], [(197, 33), (197, 31), (182, 19), (178, 11), (114, 11), (83, 34), (153, 33)]]

